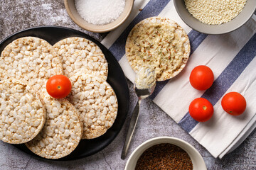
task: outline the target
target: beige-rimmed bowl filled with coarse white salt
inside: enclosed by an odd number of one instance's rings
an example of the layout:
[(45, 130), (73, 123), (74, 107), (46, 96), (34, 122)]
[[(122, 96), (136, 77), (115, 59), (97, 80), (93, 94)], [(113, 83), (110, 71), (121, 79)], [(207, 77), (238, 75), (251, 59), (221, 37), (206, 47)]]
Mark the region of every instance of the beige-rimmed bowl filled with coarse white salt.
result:
[(134, 0), (64, 0), (70, 18), (94, 33), (114, 30), (128, 18)]

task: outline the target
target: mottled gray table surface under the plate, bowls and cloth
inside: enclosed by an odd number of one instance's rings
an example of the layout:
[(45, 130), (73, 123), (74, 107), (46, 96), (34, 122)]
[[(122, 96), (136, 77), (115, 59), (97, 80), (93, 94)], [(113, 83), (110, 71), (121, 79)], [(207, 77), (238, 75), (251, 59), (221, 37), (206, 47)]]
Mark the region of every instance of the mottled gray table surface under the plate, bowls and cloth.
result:
[[(87, 32), (75, 25), (65, 11), (62, 0), (0, 1), (0, 40), (4, 40), (19, 30), (35, 26), (74, 28), (97, 40), (102, 40), (105, 36), (105, 34)], [(131, 110), (137, 100), (132, 89), (132, 83), (128, 82), (128, 84), (131, 98), (127, 120), (129, 120)], [(70, 162), (38, 159), (21, 152), (12, 145), (0, 142), (0, 169), (124, 169), (127, 159), (122, 160), (120, 156), (127, 131), (127, 122), (124, 123), (116, 139), (105, 149), (90, 157)], [(196, 140), (182, 130), (169, 115), (161, 111), (152, 101), (146, 99), (142, 102), (141, 114), (128, 156), (142, 142), (159, 136), (178, 137), (189, 142), (201, 153), (208, 169), (256, 169), (256, 130), (235, 151), (225, 155), (223, 159), (215, 159)]]

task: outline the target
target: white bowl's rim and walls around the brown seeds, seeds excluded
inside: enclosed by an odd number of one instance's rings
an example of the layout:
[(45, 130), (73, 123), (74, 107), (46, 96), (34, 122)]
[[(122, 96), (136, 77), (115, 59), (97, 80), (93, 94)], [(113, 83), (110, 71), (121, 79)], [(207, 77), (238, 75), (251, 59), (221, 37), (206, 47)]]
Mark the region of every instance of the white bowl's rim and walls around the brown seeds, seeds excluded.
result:
[(207, 170), (206, 164), (203, 161), (203, 157), (201, 156), (201, 154), (199, 154), (199, 152), (188, 142), (180, 140), (176, 137), (155, 137), (142, 143), (141, 145), (139, 145), (139, 147), (137, 147), (137, 149), (134, 150), (134, 152), (132, 152), (125, 166), (125, 170), (134, 170), (137, 164), (137, 160), (142, 155), (142, 153), (149, 147), (161, 143), (170, 143), (181, 147), (184, 151), (188, 153), (188, 156), (191, 158), (193, 169)]

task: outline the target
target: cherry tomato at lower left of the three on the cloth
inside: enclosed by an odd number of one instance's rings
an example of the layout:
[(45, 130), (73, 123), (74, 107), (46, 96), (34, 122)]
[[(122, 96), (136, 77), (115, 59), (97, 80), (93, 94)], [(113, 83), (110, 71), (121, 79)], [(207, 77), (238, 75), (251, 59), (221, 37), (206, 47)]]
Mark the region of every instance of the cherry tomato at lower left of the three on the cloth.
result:
[(213, 116), (213, 105), (206, 98), (196, 98), (189, 105), (188, 112), (198, 122), (206, 122)]

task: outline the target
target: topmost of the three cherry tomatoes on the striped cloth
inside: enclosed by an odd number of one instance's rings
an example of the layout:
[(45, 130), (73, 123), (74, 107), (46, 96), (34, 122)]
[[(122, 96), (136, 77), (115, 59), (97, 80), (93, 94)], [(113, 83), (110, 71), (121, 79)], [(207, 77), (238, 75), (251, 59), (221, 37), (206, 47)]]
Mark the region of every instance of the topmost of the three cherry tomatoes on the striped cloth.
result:
[(189, 77), (189, 81), (193, 88), (197, 90), (209, 89), (213, 84), (214, 76), (213, 71), (204, 65), (195, 67)]

